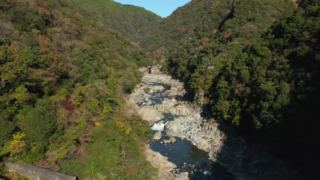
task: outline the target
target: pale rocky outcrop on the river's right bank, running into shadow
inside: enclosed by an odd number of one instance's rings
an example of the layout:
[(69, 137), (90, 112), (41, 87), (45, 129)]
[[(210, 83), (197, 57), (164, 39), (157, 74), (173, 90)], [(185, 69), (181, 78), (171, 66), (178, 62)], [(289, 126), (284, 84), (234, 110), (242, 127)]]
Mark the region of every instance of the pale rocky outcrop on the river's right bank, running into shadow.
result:
[(289, 164), (271, 156), (263, 147), (250, 145), (223, 123), (209, 122), (197, 110), (177, 117), (165, 125), (166, 136), (190, 140), (206, 151), (209, 158), (226, 166), (236, 179), (291, 179), (294, 171)]

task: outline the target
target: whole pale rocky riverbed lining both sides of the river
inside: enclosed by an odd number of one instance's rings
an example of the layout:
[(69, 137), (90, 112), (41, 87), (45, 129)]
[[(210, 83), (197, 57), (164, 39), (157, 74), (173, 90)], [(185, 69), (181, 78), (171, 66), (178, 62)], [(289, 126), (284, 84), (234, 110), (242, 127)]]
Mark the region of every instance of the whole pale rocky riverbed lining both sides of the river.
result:
[[(264, 151), (263, 147), (250, 145), (245, 139), (237, 136), (228, 125), (202, 119), (201, 108), (181, 101), (181, 97), (185, 94), (181, 82), (160, 72), (159, 67), (153, 67), (151, 74), (148, 74), (146, 69), (142, 72), (144, 72), (142, 84), (131, 94), (129, 101), (136, 104), (137, 112), (142, 119), (149, 121), (152, 125), (152, 130), (155, 130), (155, 139), (160, 139), (161, 143), (176, 140), (175, 138), (164, 139), (161, 133), (163, 130), (167, 137), (185, 138), (208, 153), (210, 160), (228, 168), (228, 171), (235, 175), (235, 179), (290, 179), (292, 177), (293, 172), (287, 168), (289, 164), (283, 164), (272, 157)], [(163, 120), (166, 114), (170, 114), (172, 119)], [(149, 154), (155, 153), (150, 149), (148, 151), (150, 151)], [(159, 155), (153, 155), (152, 157), (155, 158), (148, 159), (151, 162), (157, 161)], [(159, 179), (187, 179), (187, 173), (174, 174), (173, 169), (176, 166), (172, 166), (165, 157), (165, 160), (160, 156), (159, 158), (162, 162), (157, 165)], [(169, 170), (170, 168), (172, 170)]]

